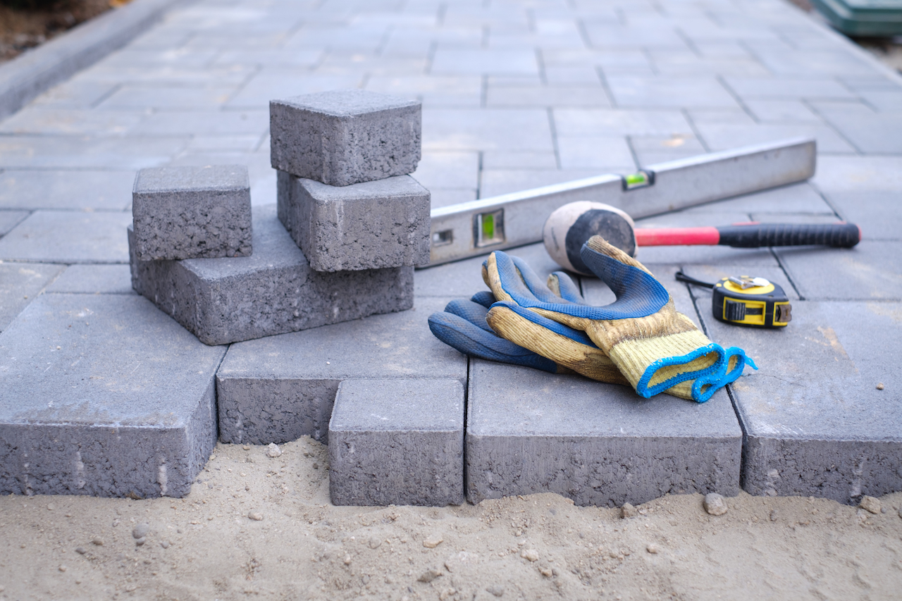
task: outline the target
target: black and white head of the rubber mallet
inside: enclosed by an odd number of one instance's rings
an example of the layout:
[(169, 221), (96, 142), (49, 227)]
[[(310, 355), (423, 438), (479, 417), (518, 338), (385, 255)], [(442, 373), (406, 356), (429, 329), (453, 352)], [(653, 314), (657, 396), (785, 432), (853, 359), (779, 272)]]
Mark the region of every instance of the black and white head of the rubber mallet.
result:
[(571, 272), (592, 275), (579, 251), (592, 236), (602, 236), (608, 244), (636, 256), (636, 224), (632, 217), (601, 202), (580, 200), (558, 208), (542, 228), (548, 254)]

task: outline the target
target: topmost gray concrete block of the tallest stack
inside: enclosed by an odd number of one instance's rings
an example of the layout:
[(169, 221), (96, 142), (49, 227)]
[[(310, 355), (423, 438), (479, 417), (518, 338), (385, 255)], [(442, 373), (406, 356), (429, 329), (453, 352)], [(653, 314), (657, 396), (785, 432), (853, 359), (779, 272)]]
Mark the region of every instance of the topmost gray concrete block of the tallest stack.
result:
[(420, 155), (420, 106), (360, 89), (270, 101), (272, 167), (330, 186), (406, 175)]

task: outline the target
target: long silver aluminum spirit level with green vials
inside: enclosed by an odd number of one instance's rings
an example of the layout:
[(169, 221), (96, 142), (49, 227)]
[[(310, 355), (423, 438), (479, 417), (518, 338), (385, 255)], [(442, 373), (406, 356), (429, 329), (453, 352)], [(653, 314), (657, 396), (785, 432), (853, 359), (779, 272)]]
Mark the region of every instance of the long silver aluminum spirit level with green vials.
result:
[(576, 200), (640, 218), (804, 181), (815, 174), (815, 153), (814, 138), (793, 138), (436, 208), (429, 264), (540, 242), (552, 211)]

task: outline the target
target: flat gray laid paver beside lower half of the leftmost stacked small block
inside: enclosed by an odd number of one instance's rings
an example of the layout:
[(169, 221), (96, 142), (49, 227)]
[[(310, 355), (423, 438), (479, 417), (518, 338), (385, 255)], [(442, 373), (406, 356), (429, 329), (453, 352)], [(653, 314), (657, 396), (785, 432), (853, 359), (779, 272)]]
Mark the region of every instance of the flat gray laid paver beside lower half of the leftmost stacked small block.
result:
[(39, 263), (127, 263), (125, 212), (34, 211), (0, 238), (0, 259)]

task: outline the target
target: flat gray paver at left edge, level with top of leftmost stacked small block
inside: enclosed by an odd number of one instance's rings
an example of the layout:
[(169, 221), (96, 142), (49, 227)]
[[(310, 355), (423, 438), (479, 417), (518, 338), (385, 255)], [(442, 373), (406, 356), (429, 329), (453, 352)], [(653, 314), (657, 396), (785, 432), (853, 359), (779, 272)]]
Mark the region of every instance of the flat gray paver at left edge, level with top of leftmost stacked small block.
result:
[(0, 208), (121, 211), (132, 203), (134, 171), (20, 171), (0, 173)]

